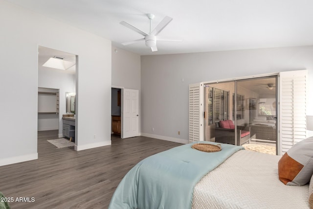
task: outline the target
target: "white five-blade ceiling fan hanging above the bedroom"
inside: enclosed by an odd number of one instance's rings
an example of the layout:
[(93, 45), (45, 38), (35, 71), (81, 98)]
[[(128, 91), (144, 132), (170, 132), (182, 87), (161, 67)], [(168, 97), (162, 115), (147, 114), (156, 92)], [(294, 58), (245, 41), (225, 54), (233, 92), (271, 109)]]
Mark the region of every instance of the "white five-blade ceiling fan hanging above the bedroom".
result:
[(168, 25), (168, 23), (170, 23), (173, 18), (170, 18), (168, 16), (166, 16), (157, 26), (156, 28), (151, 31), (151, 22), (154, 19), (155, 15), (153, 14), (147, 14), (147, 17), (150, 20), (150, 32), (149, 33), (145, 33), (142, 30), (139, 30), (138, 28), (134, 27), (133, 25), (126, 23), (125, 21), (120, 22), (120, 24), (130, 28), (131, 30), (134, 30), (135, 32), (141, 34), (144, 36), (144, 38), (142, 39), (137, 39), (134, 41), (130, 41), (130, 42), (125, 42), (122, 43), (122, 45), (126, 46), (126, 45), (130, 45), (130, 44), (134, 44), (137, 42), (142, 42), (145, 41), (146, 46), (151, 47), (152, 51), (157, 51), (157, 47), (156, 47), (156, 41), (174, 41), (174, 42), (181, 42), (182, 40), (176, 40), (176, 39), (165, 39), (165, 38), (161, 38), (159, 36), (157, 36), (166, 25)]

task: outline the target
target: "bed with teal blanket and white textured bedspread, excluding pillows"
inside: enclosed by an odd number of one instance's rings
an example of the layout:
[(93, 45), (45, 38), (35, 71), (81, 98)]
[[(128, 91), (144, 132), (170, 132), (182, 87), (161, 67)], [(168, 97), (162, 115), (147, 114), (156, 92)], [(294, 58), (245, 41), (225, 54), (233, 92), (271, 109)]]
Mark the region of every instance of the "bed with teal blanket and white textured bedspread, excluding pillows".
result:
[(309, 208), (308, 185), (286, 186), (278, 179), (280, 156), (230, 144), (221, 144), (228, 153), (220, 155), (191, 145), (135, 165), (116, 188), (109, 209)]

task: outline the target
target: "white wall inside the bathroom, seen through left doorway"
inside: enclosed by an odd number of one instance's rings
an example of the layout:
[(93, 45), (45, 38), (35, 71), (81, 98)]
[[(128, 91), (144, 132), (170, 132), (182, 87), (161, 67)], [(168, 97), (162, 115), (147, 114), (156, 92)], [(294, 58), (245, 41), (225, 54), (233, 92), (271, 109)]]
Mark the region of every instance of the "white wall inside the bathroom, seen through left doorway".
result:
[[(59, 89), (59, 115), (58, 126), (59, 137), (62, 137), (63, 121), (62, 115), (66, 113), (66, 92), (75, 92), (75, 74), (66, 74), (61, 70), (49, 69), (38, 66), (38, 87)], [(47, 127), (46, 118), (38, 117), (38, 131), (54, 130)], [(52, 117), (52, 116), (50, 116)], [(43, 127), (44, 126), (44, 127)]]

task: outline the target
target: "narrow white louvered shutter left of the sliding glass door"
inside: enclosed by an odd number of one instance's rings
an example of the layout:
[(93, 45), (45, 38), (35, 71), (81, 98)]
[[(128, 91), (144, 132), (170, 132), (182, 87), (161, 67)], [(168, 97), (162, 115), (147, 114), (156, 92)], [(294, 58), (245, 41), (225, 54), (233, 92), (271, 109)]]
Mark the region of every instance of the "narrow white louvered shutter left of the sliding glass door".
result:
[(203, 141), (203, 84), (189, 85), (189, 142)]

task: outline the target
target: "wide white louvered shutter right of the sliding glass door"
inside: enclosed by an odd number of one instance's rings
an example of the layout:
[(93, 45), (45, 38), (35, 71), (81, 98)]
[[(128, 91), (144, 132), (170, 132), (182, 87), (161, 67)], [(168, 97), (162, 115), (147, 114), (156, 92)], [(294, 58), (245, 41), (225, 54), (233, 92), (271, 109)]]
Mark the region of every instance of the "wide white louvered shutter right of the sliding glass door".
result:
[(280, 72), (280, 153), (306, 139), (307, 70)]

